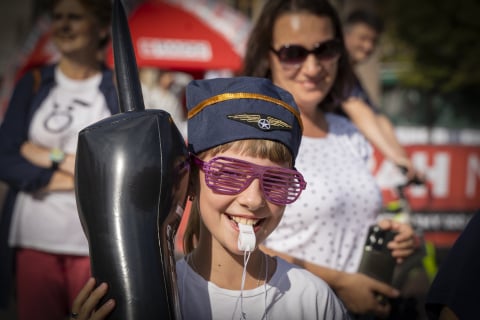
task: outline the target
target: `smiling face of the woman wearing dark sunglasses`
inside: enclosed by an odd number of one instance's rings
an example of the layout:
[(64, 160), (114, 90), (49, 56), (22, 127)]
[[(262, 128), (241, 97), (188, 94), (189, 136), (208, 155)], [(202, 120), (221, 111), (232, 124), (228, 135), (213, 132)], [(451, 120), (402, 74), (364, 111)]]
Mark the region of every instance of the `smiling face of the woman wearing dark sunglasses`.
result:
[[(281, 15), (275, 22), (272, 47), (279, 50), (283, 46), (299, 45), (312, 50), (334, 38), (330, 18), (311, 13), (289, 13)], [(332, 88), (338, 59), (339, 55), (317, 59), (315, 55), (308, 54), (303, 62), (288, 64), (282, 63), (270, 51), (272, 81), (294, 96), (301, 111), (315, 110), (312, 108), (316, 108)]]

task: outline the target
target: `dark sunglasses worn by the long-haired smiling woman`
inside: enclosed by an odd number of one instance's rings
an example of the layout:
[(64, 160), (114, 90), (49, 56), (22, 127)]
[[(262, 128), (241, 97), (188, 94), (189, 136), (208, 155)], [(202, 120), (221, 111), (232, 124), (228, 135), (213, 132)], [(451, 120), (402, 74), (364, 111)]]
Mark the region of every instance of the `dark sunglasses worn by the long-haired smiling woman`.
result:
[(278, 57), (281, 63), (300, 64), (307, 59), (309, 54), (313, 54), (320, 61), (338, 58), (343, 51), (343, 45), (341, 40), (332, 39), (317, 44), (312, 50), (297, 44), (284, 45), (278, 50), (271, 47), (270, 50)]

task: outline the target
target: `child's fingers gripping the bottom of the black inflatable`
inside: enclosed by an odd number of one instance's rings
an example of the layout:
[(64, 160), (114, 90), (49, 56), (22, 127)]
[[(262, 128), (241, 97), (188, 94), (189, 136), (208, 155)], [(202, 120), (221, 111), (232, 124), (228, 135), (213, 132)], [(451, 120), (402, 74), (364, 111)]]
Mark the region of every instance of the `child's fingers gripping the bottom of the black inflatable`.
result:
[(106, 283), (100, 284), (95, 289), (95, 279), (90, 278), (85, 286), (80, 290), (73, 301), (72, 314), (70, 319), (73, 320), (101, 320), (105, 319), (107, 315), (112, 312), (115, 307), (115, 300), (109, 299), (100, 308), (95, 309), (100, 299), (107, 293), (108, 285)]

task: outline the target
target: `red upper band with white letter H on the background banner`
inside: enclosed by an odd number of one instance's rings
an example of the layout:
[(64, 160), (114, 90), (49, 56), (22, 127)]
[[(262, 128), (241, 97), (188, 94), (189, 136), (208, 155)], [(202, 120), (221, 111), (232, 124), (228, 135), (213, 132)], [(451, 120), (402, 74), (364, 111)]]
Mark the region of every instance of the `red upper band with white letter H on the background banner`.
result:
[[(406, 146), (415, 167), (424, 172), (427, 186), (411, 186), (408, 190), (414, 211), (476, 211), (480, 209), (480, 146), (411, 145)], [(392, 164), (375, 152), (374, 172), (385, 200), (393, 187), (387, 181)], [(385, 168), (387, 166), (387, 168)], [(384, 175), (382, 177), (382, 175)], [(386, 176), (385, 176), (386, 175)]]

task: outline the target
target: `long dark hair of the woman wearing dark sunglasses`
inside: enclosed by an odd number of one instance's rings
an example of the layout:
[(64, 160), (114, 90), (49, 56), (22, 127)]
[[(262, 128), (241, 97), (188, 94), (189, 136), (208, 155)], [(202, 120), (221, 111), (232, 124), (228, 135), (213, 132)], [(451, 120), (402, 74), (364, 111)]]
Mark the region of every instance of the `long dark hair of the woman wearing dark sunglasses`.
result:
[[(272, 44), (275, 21), (282, 14), (300, 12), (330, 18), (335, 31), (335, 38), (344, 43), (340, 18), (335, 8), (327, 0), (269, 0), (265, 2), (248, 39), (244, 59), (244, 75), (271, 79), (268, 54)], [(328, 95), (321, 102), (321, 106), (325, 109), (331, 109), (348, 97), (352, 85), (353, 71), (345, 46), (343, 46), (342, 52), (338, 61), (335, 82)]]

